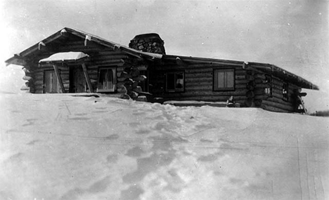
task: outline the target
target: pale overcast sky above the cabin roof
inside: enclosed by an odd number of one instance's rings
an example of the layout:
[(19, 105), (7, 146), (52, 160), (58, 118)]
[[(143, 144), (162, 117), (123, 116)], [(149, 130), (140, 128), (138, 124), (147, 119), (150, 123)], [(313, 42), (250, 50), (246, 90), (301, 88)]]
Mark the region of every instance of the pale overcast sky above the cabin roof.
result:
[[(164, 40), (167, 54), (271, 63), (329, 91), (328, 1), (2, 0), (0, 4), (1, 60), (63, 27), (126, 46), (136, 34), (155, 32)], [(8, 69), (2, 68), (2, 76), (8, 77), (4, 72)]]

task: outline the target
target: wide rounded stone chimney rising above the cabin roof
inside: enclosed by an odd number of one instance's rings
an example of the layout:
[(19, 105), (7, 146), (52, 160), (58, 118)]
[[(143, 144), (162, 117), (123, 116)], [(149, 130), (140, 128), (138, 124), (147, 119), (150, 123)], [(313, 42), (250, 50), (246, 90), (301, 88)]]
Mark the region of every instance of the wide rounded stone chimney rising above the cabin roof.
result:
[(164, 51), (164, 41), (155, 33), (136, 35), (134, 39), (131, 39), (129, 47), (138, 51), (166, 54)]

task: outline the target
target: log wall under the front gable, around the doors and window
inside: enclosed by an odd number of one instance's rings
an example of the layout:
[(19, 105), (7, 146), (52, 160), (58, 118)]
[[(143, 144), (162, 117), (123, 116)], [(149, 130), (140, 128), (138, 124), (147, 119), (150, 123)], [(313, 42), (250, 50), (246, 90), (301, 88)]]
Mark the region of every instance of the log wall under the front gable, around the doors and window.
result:
[[(127, 62), (126, 62), (127, 61)], [(140, 76), (140, 68), (145, 70), (147, 66), (145, 65), (135, 65), (132, 67), (131, 58), (120, 51), (101, 51), (94, 54), (91, 60), (84, 62), (86, 65), (86, 71), (89, 75), (91, 81), (92, 91), (96, 92), (97, 82), (98, 82), (98, 69), (100, 67), (115, 67), (117, 76), (117, 92), (122, 95), (129, 95), (129, 98), (137, 98), (138, 93), (141, 92), (140, 82), (146, 77)], [(71, 81), (73, 71), (70, 70), (73, 67), (81, 68), (82, 63), (59, 63), (59, 62), (41, 62), (41, 65), (32, 66), (33, 71), (26, 72), (29, 75), (29, 81), (26, 84), (30, 87), (30, 92), (32, 93), (44, 93), (44, 71), (53, 70), (53, 65), (56, 65), (60, 71), (60, 77), (63, 80), (63, 85), (65, 88), (65, 93), (72, 91)], [(83, 81), (85, 78), (83, 76)], [(89, 92), (84, 91), (84, 92)], [(126, 96), (127, 98), (127, 96)]]

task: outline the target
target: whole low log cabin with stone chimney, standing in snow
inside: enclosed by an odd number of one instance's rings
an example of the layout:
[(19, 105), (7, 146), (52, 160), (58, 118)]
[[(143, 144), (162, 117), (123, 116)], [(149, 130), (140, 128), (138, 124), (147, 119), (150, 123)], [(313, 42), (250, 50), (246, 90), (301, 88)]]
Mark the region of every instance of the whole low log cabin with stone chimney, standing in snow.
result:
[[(55, 55), (70, 55), (53, 58)], [(75, 55), (75, 56), (72, 56)], [(149, 102), (226, 102), (273, 112), (307, 113), (311, 82), (276, 65), (167, 55), (158, 34), (129, 46), (65, 27), (6, 60), (22, 65), (30, 93), (106, 93)]]

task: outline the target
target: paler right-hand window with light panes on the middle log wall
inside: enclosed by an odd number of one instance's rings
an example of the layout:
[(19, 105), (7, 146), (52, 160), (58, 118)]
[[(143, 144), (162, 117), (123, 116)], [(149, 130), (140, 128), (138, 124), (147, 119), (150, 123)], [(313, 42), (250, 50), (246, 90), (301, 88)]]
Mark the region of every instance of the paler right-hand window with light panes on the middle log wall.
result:
[(234, 91), (234, 76), (234, 69), (214, 69), (214, 91)]

